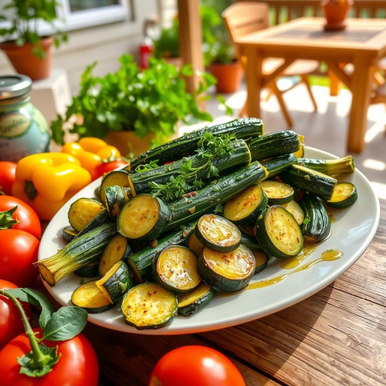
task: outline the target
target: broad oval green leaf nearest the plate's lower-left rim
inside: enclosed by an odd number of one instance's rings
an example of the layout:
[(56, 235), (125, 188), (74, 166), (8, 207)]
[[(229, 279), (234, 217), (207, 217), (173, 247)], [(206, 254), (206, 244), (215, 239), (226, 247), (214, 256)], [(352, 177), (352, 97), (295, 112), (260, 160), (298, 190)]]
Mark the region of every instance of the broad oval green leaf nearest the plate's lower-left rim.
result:
[(87, 323), (87, 311), (76, 307), (61, 307), (52, 314), (42, 339), (68, 340), (78, 335)]

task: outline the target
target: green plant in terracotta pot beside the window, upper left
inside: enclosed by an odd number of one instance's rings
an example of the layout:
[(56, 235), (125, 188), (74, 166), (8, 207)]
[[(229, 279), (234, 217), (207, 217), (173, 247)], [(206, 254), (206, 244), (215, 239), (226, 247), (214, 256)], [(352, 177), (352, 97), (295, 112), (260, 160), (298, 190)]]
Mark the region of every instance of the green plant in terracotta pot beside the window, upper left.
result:
[[(66, 41), (54, 25), (57, 20), (56, 0), (12, 0), (3, 7), (6, 14), (0, 21), (6, 27), (0, 29), (0, 36), (11, 39), (0, 43), (18, 73), (28, 75), (32, 80), (46, 78), (51, 70), (51, 46)], [(39, 23), (48, 23), (56, 36), (40, 36)]]

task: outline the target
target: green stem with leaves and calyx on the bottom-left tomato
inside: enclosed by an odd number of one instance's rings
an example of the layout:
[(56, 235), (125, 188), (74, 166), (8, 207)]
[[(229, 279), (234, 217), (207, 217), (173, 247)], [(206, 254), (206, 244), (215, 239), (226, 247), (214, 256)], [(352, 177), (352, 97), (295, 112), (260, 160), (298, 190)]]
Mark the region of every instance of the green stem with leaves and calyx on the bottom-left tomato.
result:
[[(60, 359), (58, 346), (49, 348), (43, 340), (63, 341), (78, 335), (87, 323), (87, 312), (79, 307), (61, 307), (54, 312), (47, 298), (39, 291), (31, 288), (1, 289), (0, 295), (10, 299), (20, 312), (25, 333), (31, 345), (31, 351), (18, 358), (20, 373), (31, 377), (44, 376)], [(42, 337), (37, 338), (20, 302), (28, 302), (42, 309), (39, 325)]]

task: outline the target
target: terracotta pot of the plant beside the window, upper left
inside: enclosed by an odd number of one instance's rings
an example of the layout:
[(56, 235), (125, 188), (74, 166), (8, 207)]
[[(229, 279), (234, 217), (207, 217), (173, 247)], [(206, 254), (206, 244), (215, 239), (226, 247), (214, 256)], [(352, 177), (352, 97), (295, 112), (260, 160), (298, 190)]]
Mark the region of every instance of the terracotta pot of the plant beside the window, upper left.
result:
[(50, 76), (51, 72), (51, 46), (52, 37), (43, 38), (40, 47), (46, 53), (44, 59), (32, 53), (34, 45), (26, 43), (17, 46), (14, 42), (0, 43), (0, 48), (7, 54), (8, 59), (19, 74), (29, 76), (32, 80), (44, 79)]

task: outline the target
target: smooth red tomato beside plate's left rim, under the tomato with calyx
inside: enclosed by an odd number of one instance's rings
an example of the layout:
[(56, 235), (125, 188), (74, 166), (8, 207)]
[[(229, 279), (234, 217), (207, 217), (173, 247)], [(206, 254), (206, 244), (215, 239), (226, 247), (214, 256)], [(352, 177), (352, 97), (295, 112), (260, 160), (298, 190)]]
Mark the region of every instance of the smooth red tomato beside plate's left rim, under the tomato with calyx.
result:
[[(19, 229), (0, 230), (0, 278), (27, 287), (38, 275), (39, 240)], [(1, 378), (0, 378), (1, 379)]]

